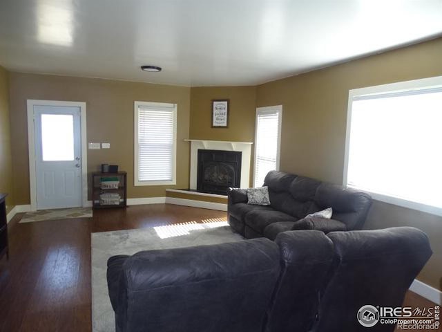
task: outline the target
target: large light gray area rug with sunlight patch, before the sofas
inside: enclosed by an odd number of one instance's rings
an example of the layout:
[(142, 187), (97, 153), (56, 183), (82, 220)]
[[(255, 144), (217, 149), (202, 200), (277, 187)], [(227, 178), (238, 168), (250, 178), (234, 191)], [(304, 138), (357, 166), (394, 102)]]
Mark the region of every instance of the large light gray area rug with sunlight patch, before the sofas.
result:
[(91, 234), (93, 332), (115, 331), (115, 316), (106, 282), (106, 264), (109, 257), (133, 255), (142, 250), (183, 248), (243, 239), (240, 234), (232, 232), (226, 221), (217, 219), (204, 223), (189, 222)]

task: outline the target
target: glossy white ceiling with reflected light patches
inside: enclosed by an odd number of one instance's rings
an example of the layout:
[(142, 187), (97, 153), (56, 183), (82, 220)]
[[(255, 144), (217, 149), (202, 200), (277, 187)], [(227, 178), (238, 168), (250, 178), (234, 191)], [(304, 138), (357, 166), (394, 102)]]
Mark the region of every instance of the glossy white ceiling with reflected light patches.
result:
[(440, 34), (442, 0), (0, 0), (11, 71), (186, 86), (260, 84)]

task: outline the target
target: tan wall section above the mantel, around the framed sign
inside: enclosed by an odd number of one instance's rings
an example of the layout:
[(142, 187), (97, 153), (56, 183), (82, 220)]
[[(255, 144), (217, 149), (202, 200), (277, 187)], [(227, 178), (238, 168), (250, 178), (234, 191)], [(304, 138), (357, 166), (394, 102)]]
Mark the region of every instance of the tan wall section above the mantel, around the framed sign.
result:
[[(229, 99), (229, 127), (211, 127), (211, 107), (214, 99)], [(190, 138), (253, 142), (255, 140), (255, 86), (201, 86), (191, 89)], [(252, 119), (252, 120), (251, 120)], [(251, 160), (253, 160), (253, 145)], [(250, 165), (250, 184), (253, 161)]]

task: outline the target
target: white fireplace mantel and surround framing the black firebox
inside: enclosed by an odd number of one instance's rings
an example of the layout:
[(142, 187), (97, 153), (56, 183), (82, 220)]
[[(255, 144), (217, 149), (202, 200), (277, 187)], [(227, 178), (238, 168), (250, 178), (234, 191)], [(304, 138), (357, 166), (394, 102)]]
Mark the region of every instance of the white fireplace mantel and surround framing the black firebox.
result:
[(196, 190), (198, 172), (198, 150), (240, 151), (241, 187), (248, 188), (250, 183), (251, 145), (253, 142), (234, 142), (224, 140), (186, 140), (191, 142), (190, 189)]

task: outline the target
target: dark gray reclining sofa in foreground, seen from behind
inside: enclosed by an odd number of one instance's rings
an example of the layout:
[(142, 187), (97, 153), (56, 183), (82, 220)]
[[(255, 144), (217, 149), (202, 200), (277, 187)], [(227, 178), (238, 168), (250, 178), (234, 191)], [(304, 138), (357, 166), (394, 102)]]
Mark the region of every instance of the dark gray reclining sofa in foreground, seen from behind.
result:
[(416, 228), (300, 230), (111, 257), (107, 279), (117, 332), (357, 332), (358, 309), (400, 306), (431, 255)]

